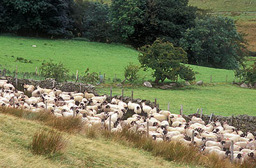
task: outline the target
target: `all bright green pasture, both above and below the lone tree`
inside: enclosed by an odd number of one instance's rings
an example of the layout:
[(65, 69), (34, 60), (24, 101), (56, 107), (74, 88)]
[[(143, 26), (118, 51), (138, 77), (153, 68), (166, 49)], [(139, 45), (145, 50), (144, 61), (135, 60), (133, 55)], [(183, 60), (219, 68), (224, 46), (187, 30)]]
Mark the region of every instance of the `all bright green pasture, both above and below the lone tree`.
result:
[[(18, 65), (19, 71), (35, 71), (36, 66), (40, 66), (45, 60), (53, 59), (54, 62), (62, 61), (71, 72), (79, 72), (90, 67), (92, 71), (106, 73), (106, 78), (124, 79), (124, 66), (128, 62), (138, 63), (138, 52), (131, 48), (121, 45), (108, 45), (103, 43), (90, 43), (73, 40), (51, 40), (23, 38), (15, 36), (0, 36), (4, 41), (0, 46), (1, 65), (6, 65), (8, 69), (15, 69)], [(19, 45), (22, 43), (22, 45)], [(36, 48), (31, 45), (35, 44)], [(47, 45), (44, 45), (47, 44)], [(52, 46), (51, 46), (52, 45)], [(8, 56), (5, 56), (8, 55)], [(12, 57), (14, 56), (14, 58)], [(16, 62), (15, 57), (23, 57), (33, 63)], [(38, 60), (38, 61), (36, 61)], [(86, 61), (85, 61), (86, 60)], [(113, 61), (115, 60), (115, 61)], [(250, 64), (255, 58), (252, 58)], [(171, 110), (179, 112), (180, 105), (184, 106), (185, 113), (193, 113), (197, 108), (204, 108), (204, 112), (216, 115), (255, 115), (255, 106), (252, 106), (253, 97), (256, 90), (243, 89), (228, 85), (234, 80), (233, 71), (226, 69), (214, 69), (210, 67), (191, 66), (199, 74), (196, 81), (203, 80), (208, 84), (204, 87), (192, 86), (179, 90), (160, 90), (157, 88), (145, 88), (142, 84), (139, 87), (125, 87), (125, 94), (131, 95), (134, 90), (134, 97), (157, 101), (160, 107), (167, 108), (168, 102), (171, 103)], [(211, 81), (212, 75), (212, 83)], [(226, 81), (227, 77), (227, 83)], [(150, 72), (140, 72), (140, 79), (153, 80)], [(236, 80), (238, 81), (238, 79)], [(218, 84), (214, 84), (218, 83)], [(109, 87), (114, 85), (107, 82), (107, 85), (97, 87), (100, 94), (109, 94)], [(120, 88), (114, 88), (114, 94), (120, 94)]]

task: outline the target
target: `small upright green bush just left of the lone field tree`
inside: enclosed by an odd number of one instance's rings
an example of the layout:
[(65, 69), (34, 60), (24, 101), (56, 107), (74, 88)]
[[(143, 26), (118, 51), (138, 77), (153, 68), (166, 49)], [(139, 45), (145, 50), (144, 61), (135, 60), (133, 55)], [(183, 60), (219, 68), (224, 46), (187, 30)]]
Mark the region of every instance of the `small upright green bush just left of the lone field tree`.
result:
[(132, 62), (129, 62), (129, 65), (124, 67), (124, 77), (128, 81), (138, 80), (138, 72), (140, 71), (140, 66), (134, 65)]

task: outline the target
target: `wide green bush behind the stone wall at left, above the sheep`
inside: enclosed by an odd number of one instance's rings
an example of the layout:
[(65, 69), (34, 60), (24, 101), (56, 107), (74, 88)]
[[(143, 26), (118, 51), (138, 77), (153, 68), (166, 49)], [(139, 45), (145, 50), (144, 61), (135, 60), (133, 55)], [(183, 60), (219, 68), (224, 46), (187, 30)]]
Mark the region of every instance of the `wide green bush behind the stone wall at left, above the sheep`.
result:
[(56, 81), (64, 81), (68, 69), (63, 66), (61, 62), (54, 64), (52, 60), (49, 62), (42, 63), (42, 66), (39, 68), (41, 76), (45, 78), (54, 78)]

